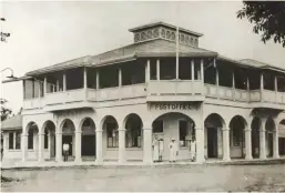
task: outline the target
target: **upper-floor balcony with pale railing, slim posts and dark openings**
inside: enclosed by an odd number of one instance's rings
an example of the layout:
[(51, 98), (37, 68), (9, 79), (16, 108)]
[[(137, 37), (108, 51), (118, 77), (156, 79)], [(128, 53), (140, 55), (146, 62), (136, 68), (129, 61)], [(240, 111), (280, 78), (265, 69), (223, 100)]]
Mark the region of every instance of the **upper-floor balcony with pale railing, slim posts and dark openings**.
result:
[(60, 111), (93, 108), (106, 101), (205, 101), (285, 106), (284, 74), (244, 70), (216, 59), (135, 60), (120, 65), (77, 68), (24, 81), (23, 109)]

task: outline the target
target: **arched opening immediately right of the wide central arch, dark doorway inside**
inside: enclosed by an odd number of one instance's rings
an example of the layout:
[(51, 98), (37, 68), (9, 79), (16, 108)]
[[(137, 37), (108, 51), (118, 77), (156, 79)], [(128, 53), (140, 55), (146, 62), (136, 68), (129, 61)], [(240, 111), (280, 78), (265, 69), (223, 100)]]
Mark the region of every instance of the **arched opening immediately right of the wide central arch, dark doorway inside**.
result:
[(223, 140), (222, 140), (222, 129), (225, 123), (220, 114), (210, 114), (205, 121), (205, 146), (206, 146), (206, 158), (217, 159), (223, 156)]

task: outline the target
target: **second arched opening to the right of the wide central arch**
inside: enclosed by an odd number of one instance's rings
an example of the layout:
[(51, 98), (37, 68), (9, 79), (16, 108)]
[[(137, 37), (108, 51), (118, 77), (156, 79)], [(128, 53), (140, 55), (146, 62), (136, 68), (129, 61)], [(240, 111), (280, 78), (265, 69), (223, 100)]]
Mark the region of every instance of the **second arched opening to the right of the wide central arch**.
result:
[(230, 151), (233, 159), (245, 156), (245, 128), (246, 121), (241, 115), (234, 116), (230, 122)]

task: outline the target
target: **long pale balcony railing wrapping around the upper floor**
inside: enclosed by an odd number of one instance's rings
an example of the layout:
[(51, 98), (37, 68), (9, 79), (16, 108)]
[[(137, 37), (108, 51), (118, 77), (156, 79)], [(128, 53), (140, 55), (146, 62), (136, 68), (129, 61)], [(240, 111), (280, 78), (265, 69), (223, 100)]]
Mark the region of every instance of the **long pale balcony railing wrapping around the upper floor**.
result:
[[(266, 102), (285, 105), (285, 92), (269, 90), (241, 90), (214, 84), (206, 84), (200, 80), (161, 80), (150, 81), (147, 84), (132, 84), (106, 89), (78, 89), (65, 92), (47, 93), (44, 98), (34, 98), (23, 101), (23, 109), (40, 109), (57, 104), (70, 104), (77, 102), (103, 102), (123, 99), (144, 98), (146, 95), (175, 95), (193, 96), (202, 95), (220, 100), (238, 102)], [(179, 99), (179, 98), (177, 98)], [(191, 100), (191, 98), (183, 98)], [(204, 100), (203, 98), (202, 100)], [(150, 100), (146, 98), (146, 100)]]

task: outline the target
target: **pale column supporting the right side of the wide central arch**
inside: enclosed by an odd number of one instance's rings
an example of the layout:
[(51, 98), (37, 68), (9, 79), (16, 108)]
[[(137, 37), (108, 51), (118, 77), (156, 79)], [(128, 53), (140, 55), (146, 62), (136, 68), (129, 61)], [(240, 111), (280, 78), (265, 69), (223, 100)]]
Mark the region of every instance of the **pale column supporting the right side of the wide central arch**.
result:
[(204, 128), (196, 128), (196, 162), (203, 163), (205, 162), (205, 135), (204, 135)]

